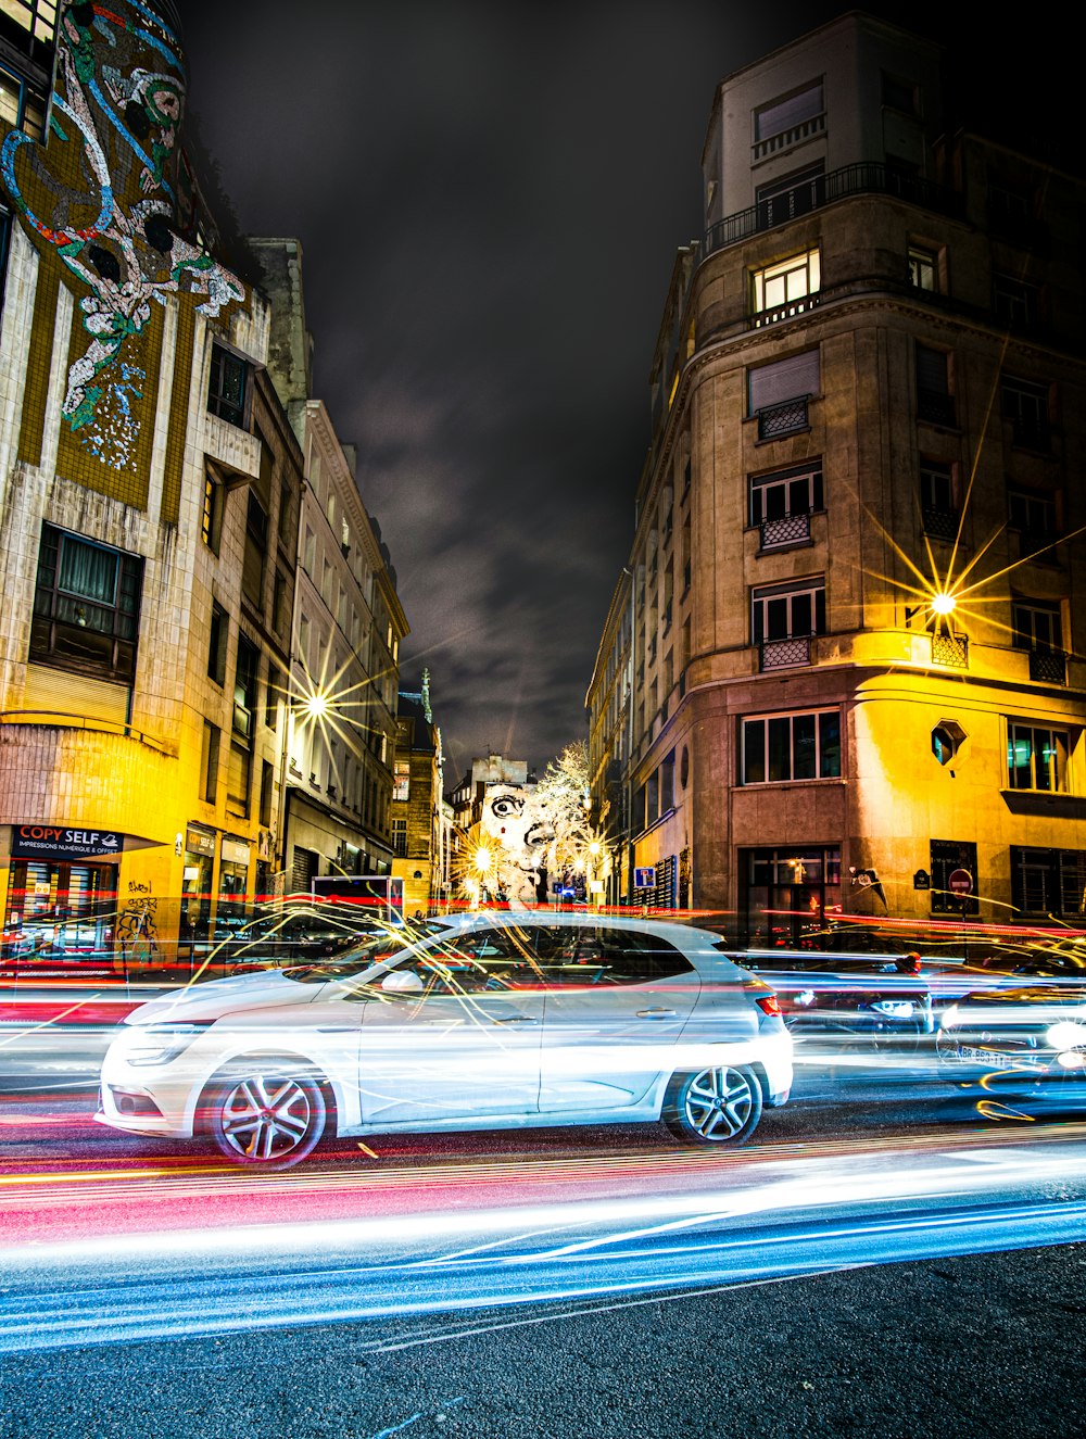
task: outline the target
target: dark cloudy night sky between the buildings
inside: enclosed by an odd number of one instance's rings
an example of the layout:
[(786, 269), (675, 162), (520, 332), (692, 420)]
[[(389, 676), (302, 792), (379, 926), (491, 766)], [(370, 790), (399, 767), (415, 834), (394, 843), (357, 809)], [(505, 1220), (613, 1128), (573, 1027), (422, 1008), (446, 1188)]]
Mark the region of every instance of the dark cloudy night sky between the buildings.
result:
[(237, 223), (302, 242), (315, 394), (358, 445), (450, 787), (587, 732), (713, 86), (843, 9), (181, 0)]

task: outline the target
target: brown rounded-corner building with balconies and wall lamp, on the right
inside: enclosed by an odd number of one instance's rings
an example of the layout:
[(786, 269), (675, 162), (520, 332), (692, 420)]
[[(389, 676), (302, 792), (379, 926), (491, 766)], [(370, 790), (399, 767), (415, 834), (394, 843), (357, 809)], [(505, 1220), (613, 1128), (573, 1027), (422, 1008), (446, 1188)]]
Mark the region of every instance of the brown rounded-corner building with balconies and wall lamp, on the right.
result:
[(1086, 194), (939, 62), (849, 14), (721, 83), (653, 360), (627, 898), (755, 944), (1083, 915)]

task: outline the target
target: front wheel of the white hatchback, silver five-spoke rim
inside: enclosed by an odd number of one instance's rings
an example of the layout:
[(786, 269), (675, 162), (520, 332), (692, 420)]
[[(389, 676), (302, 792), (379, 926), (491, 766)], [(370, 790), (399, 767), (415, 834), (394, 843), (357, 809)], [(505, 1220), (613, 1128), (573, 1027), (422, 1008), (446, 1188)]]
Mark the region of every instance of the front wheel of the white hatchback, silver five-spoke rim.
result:
[(305, 1069), (252, 1061), (207, 1091), (204, 1128), (220, 1154), (252, 1168), (289, 1168), (321, 1143), (328, 1104)]

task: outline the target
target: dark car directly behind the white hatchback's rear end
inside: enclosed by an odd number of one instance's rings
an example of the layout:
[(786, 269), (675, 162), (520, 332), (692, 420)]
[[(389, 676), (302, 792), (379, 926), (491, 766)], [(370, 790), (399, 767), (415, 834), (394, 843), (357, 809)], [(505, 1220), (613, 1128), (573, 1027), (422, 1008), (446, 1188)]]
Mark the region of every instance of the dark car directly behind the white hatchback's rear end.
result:
[(870, 1048), (916, 1045), (935, 1029), (918, 954), (748, 950), (732, 957), (772, 986), (797, 1035), (860, 1035)]

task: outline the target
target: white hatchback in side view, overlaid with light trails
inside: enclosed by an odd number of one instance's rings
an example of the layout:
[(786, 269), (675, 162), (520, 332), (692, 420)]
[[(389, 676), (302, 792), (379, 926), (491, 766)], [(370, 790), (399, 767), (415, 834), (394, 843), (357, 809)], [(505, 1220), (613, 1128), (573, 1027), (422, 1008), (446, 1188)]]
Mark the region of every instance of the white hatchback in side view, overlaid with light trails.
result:
[(106, 1053), (96, 1118), (210, 1137), (263, 1168), (328, 1134), (663, 1118), (741, 1144), (791, 1081), (777, 997), (718, 935), (501, 912), (142, 1004)]

